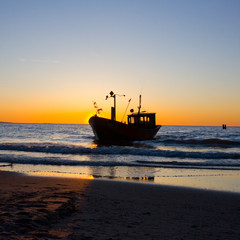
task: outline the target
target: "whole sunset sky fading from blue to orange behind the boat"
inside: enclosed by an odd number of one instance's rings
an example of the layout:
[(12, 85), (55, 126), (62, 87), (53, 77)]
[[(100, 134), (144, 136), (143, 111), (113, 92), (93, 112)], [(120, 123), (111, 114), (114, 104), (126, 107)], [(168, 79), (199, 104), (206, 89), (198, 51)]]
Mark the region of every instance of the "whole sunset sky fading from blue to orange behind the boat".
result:
[(0, 121), (240, 126), (239, 0), (0, 0)]

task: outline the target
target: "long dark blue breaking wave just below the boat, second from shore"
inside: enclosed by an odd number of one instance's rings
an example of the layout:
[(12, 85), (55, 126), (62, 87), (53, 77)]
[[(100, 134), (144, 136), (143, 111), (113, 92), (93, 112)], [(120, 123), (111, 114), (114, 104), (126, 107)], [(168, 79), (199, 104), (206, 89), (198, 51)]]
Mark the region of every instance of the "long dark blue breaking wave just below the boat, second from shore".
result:
[(238, 152), (191, 152), (180, 150), (141, 149), (133, 147), (96, 147), (89, 148), (75, 145), (61, 145), (53, 143), (2, 143), (0, 150), (41, 152), (53, 154), (78, 154), (78, 155), (134, 155), (165, 158), (190, 158), (190, 159), (240, 159)]

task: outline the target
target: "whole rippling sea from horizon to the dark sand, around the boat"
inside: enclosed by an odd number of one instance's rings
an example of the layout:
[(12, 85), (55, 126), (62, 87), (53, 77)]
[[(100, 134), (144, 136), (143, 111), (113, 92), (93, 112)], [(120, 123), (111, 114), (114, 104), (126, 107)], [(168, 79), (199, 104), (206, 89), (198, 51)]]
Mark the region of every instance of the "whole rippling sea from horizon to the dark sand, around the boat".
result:
[(240, 193), (240, 127), (162, 126), (102, 145), (89, 125), (0, 123), (0, 170)]

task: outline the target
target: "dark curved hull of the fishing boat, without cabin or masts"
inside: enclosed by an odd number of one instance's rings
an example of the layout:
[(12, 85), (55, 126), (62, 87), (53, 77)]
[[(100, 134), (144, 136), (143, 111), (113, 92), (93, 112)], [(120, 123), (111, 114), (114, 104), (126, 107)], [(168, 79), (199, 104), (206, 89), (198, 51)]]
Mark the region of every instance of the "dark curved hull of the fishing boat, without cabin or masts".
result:
[(101, 142), (151, 140), (160, 129), (160, 126), (141, 128), (97, 116), (91, 117), (89, 124), (96, 140)]

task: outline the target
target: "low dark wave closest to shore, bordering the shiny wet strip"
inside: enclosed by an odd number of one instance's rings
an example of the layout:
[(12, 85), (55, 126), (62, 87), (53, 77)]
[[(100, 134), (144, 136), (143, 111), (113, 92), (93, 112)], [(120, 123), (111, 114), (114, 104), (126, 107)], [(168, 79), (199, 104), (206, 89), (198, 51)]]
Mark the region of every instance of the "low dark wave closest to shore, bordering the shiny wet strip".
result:
[[(59, 157), (32, 157), (14, 154), (0, 155), (0, 163), (10, 164), (30, 164), (48, 166), (69, 166), (69, 167), (160, 167), (160, 168), (188, 168), (188, 169), (218, 169), (218, 170), (240, 170), (240, 162), (236, 161), (148, 161), (132, 160), (118, 162), (112, 158), (107, 161), (71, 160)], [(1, 164), (0, 164), (1, 167)]]

